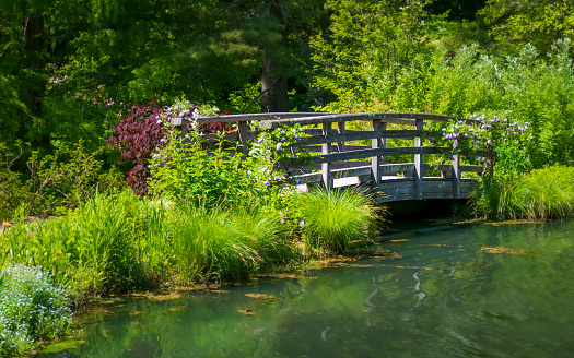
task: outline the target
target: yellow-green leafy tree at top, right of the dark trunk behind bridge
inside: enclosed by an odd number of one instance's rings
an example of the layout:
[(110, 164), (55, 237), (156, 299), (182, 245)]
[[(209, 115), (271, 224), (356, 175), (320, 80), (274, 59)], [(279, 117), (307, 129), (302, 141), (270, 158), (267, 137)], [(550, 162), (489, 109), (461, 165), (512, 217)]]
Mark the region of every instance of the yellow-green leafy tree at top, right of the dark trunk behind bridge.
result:
[(327, 1), (329, 31), (311, 41), (316, 85), (338, 98), (326, 110), (371, 104), (374, 88), (397, 86), (401, 67), (424, 52), (425, 3)]

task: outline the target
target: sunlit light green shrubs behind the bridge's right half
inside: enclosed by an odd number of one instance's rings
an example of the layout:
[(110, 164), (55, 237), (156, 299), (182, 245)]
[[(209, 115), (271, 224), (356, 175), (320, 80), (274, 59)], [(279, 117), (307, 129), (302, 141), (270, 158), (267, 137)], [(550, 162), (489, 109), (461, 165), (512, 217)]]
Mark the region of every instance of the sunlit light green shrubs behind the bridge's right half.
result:
[[(574, 72), (569, 52), (569, 40), (558, 41), (549, 60), (539, 59), (532, 46), (504, 60), (481, 56), (478, 46), (464, 47), (453, 59), (436, 52), (403, 67), (396, 88), (384, 83), (373, 85), (370, 97), (376, 99), (371, 105), (365, 107), (356, 96), (351, 107), (513, 118), (528, 122), (530, 131), (524, 146), (506, 143), (501, 147), (501, 160), (525, 169), (554, 163), (572, 165)], [(513, 163), (516, 156), (520, 163)]]

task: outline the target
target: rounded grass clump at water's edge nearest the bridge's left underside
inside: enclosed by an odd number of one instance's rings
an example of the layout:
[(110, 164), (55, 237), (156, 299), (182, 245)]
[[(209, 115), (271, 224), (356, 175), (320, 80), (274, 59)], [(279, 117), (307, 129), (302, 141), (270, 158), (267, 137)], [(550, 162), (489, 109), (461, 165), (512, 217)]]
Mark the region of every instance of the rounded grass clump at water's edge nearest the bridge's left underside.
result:
[(316, 189), (294, 196), (307, 249), (345, 253), (374, 228), (376, 210), (356, 190)]

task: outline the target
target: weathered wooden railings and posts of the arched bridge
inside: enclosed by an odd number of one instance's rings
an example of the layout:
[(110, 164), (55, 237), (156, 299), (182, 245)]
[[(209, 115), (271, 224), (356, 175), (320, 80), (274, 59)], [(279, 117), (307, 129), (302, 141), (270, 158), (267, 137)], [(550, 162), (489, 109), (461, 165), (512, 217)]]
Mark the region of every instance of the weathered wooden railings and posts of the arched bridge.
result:
[[(172, 124), (181, 127), (185, 134), (187, 124), (197, 123), (213, 123), (213, 122), (236, 122), (236, 133), (227, 133), (226, 139), (237, 140), (242, 143), (241, 150), (247, 154), (247, 141), (257, 138), (258, 131), (251, 130), (248, 121), (259, 120), (261, 129), (273, 129), (281, 126), (301, 127), (321, 124), (323, 129), (306, 130), (315, 135), (302, 139), (295, 146), (308, 146), (313, 144), (320, 145), (320, 155), (309, 158), (311, 163), (320, 165), (320, 172), (303, 174), (297, 178), (304, 182), (317, 182), (320, 175), (320, 183), (326, 188), (333, 186), (333, 179), (338, 176), (358, 176), (366, 179), (371, 178), (370, 182), (373, 189), (379, 188), (382, 175), (385, 172), (401, 172), (409, 174), (410, 180), (413, 181), (413, 199), (423, 199), (423, 176), (424, 171), (429, 170), (429, 165), (422, 162), (423, 154), (440, 154), (452, 153), (452, 165), (437, 165), (443, 178), (450, 178), (453, 183), (452, 198), (460, 196), (460, 182), (462, 171), (483, 172), (485, 167), (482, 166), (464, 166), (460, 165), (460, 156), (483, 156), (493, 158), (496, 153), (493, 151), (458, 151), (453, 153), (452, 147), (424, 147), (423, 128), (425, 121), (447, 122), (450, 120), (462, 121), (468, 124), (479, 124), (480, 121), (476, 119), (467, 119), (452, 116), (440, 116), (430, 114), (413, 114), (413, 112), (362, 112), (362, 114), (325, 114), (325, 112), (268, 112), (268, 114), (248, 114), (248, 115), (226, 115), (219, 117), (202, 117), (202, 118), (174, 118)], [(345, 122), (348, 121), (372, 121), (372, 130), (345, 130)], [(337, 123), (338, 133), (332, 130), (332, 123)], [(387, 124), (405, 124), (413, 126), (414, 130), (387, 130)], [(214, 135), (204, 135), (207, 139), (214, 140)], [(409, 147), (386, 147), (387, 139), (413, 139), (414, 145)], [(368, 147), (352, 147), (345, 144), (349, 141), (372, 140), (371, 148)], [(456, 143), (456, 140), (455, 142)], [(337, 146), (338, 153), (331, 153), (332, 146)], [(293, 152), (294, 153), (294, 152)], [(294, 153), (295, 154), (295, 153)], [(413, 163), (402, 164), (385, 164), (385, 156), (387, 155), (413, 155)], [(349, 159), (367, 158), (371, 157), (371, 166), (362, 166), (344, 169), (332, 169), (331, 165), (338, 162)], [(283, 160), (280, 165), (282, 167), (293, 168), (296, 160)], [(492, 163), (489, 159), (487, 163)], [(403, 170), (408, 168), (408, 170)], [(412, 175), (412, 177), (410, 176)], [(408, 179), (408, 178), (405, 178)], [(433, 178), (424, 178), (431, 180)], [(436, 178), (434, 178), (436, 179)]]

